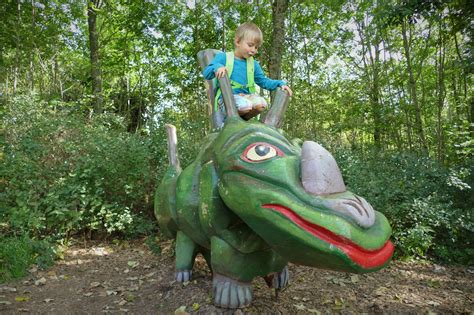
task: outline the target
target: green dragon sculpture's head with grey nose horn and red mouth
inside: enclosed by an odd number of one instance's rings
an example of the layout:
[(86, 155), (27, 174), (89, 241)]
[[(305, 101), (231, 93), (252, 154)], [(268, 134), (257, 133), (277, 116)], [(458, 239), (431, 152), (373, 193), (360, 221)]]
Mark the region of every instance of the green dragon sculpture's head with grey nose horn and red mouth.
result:
[(225, 204), (286, 260), (357, 273), (389, 262), (387, 219), (346, 190), (322, 146), (230, 116), (214, 152)]

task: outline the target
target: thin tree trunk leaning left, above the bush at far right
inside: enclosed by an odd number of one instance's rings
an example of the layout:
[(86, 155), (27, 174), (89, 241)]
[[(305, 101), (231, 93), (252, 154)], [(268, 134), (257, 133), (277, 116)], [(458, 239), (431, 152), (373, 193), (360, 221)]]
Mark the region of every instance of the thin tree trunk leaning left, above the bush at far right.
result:
[(415, 110), (415, 130), (419, 139), (419, 145), (424, 151), (428, 151), (428, 147), (426, 145), (426, 140), (425, 140), (425, 133), (423, 130), (423, 123), (421, 121), (421, 109), (420, 109), (420, 105), (418, 104), (418, 99), (417, 99), (416, 80), (413, 74), (413, 66), (411, 63), (406, 20), (402, 21), (402, 39), (403, 39), (403, 48), (404, 48), (405, 58), (407, 61), (407, 71), (409, 75), (408, 84), (409, 84), (410, 98), (411, 98), (411, 103), (413, 105), (413, 109)]

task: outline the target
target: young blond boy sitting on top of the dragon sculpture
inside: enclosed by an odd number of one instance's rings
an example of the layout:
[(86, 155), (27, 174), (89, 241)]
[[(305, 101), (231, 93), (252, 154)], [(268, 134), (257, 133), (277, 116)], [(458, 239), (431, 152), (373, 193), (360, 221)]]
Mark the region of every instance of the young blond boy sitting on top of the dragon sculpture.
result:
[[(215, 77), (220, 79), (226, 73), (230, 76), (232, 92), (239, 115), (245, 119), (250, 119), (261, 113), (267, 102), (265, 99), (255, 94), (255, 83), (266, 90), (273, 91), (278, 87), (287, 91), (291, 96), (293, 92), (281, 80), (271, 80), (265, 76), (260, 64), (254, 60), (258, 48), (263, 42), (262, 31), (253, 23), (244, 23), (235, 32), (235, 49), (232, 53), (218, 53), (211, 63), (204, 69), (203, 75), (206, 80)], [(227, 60), (230, 57), (232, 60)], [(230, 67), (232, 73), (228, 73), (226, 65)], [(252, 71), (253, 70), (253, 71)], [(253, 75), (253, 78), (248, 78)], [(222, 106), (222, 98), (219, 99)]]

